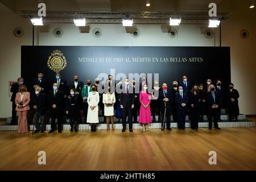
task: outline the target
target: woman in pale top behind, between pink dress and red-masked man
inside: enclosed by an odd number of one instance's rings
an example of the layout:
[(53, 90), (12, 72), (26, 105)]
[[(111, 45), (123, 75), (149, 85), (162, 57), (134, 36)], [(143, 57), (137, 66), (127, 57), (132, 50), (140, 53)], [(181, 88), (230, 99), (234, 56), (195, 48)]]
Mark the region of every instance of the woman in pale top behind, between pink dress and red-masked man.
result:
[(155, 113), (158, 114), (158, 122), (161, 122), (161, 115), (160, 115), (160, 103), (158, 100), (158, 94), (160, 90), (159, 82), (155, 80), (154, 87), (152, 88), (152, 101), (151, 101), (151, 111), (153, 116), (153, 121), (155, 122)]

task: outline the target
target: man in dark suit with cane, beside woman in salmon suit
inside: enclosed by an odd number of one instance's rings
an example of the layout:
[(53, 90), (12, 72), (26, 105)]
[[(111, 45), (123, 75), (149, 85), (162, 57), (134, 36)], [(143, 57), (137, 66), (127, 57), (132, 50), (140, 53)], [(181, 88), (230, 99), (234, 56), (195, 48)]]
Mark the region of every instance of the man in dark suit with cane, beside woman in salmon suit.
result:
[[(35, 128), (34, 133), (38, 133), (41, 130), (41, 133), (44, 133), (46, 130), (46, 123), (44, 122), (44, 115), (46, 113), (46, 94), (42, 93), (42, 88), (35, 86), (35, 92), (31, 94), (31, 102), (33, 109), (36, 110), (35, 113)], [(41, 121), (41, 125), (39, 123)]]

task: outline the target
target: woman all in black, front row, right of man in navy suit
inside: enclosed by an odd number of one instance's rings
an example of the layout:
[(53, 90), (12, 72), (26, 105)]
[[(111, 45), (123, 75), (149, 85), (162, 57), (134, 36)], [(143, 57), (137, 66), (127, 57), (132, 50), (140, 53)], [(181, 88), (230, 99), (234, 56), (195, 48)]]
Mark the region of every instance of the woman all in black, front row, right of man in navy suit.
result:
[(200, 96), (199, 86), (193, 85), (193, 89), (189, 93), (189, 102), (191, 106), (191, 129), (198, 129), (198, 121), (200, 115)]

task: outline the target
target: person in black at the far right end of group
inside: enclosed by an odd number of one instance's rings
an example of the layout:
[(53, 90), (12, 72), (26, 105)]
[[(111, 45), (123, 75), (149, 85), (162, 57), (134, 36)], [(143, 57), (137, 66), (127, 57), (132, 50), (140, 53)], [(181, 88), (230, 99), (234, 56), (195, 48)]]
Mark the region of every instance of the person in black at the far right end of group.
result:
[(228, 111), (229, 111), (229, 121), (232, 121), (233, 117), (237, 121), (237, 117), (239, 115), (239, 106), (238, 106), (238, 98), (239, 93), (236, 89), (234, 89), (234, 84), (229, 84), (228, 90)]

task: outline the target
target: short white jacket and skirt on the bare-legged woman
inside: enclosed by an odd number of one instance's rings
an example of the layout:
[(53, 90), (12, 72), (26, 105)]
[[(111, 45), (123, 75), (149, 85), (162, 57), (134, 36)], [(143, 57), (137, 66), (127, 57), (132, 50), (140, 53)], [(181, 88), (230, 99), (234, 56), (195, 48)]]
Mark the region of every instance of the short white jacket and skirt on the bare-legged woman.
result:
[[(102, 97), (102, 102), (104, 104), (104, 115), (105, 116), (114, 115), (115, 94), (104, 93)], [(110, 103), (112, 105), (105, 105)]]

